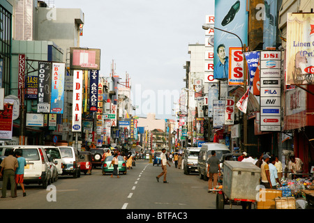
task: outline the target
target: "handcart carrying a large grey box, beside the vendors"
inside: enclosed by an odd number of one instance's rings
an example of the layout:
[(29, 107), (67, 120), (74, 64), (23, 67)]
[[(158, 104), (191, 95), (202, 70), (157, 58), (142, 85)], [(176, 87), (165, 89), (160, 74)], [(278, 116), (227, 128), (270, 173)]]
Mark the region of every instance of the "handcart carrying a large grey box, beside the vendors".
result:
[(244, 209), (256, 206), (257, 188), (260, 185), (261, 170), (251, 162), (223, 162), (223, 187), (216, 192), (216, 209), (224, 209), (225, 204), (241, 205)]

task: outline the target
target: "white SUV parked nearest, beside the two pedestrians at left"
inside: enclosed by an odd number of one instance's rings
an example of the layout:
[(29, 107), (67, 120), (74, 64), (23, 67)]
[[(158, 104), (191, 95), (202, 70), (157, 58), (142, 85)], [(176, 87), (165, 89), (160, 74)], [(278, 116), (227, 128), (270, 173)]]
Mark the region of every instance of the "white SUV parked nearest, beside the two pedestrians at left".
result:
[(20, 151), (27, 166), (24, 167), (24, 184), (38, 183), (43, 189), (51, 183), (51, 169), (45, 148), (43, 146), (15, 146), (14, 151)]

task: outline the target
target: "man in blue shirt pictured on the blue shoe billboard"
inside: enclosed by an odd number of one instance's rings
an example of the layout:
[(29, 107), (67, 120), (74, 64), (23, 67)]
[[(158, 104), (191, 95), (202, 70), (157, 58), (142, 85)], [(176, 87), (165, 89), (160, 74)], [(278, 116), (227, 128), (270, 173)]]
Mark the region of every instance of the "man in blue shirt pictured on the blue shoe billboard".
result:
[(228, 78), (229, 59), (225, 56), (225, 45), (218, 45), (217, 55), (219, 57), (219, 61), (214, 67), (214, 79)]

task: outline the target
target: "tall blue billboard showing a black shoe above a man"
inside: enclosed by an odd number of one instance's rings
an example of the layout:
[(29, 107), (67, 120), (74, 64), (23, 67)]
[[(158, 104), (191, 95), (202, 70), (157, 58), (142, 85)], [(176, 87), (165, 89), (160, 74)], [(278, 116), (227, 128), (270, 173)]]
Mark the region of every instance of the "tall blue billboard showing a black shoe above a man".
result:
[(215, 1), (214, 79), (228, 79), (229, 47), (243, 47), (241, 41), (247, 43), (247, 18), (246, 1)]

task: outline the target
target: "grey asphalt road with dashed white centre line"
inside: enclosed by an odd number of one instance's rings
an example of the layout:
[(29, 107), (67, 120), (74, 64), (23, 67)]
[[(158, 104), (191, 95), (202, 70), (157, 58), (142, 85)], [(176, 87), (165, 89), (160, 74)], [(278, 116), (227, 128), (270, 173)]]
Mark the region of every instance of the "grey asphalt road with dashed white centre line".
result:
[[(216, 196), (207, 193), (207, 182), (198, 174), (184, 175), (174, 164), (168, 167), (165, 184), (156, 176), (161, 167), (149, 160), (136, 160), (133, 169), (120, 178), (110, 174), (103, 176), (101, 169), (80, 178), (59, 176), (52, 190), (43, 190), (38, 185), (26, 185), (27, 196), (17, 188), (17, 198), (8, 196), (0, 200), (0, 209), (214, 209)], [(2, 182), (0, 181), (0, 187)], [(163, 194), (163, 196), (160, 196)], [(55, 198), (55, 201), (52, 199)], [(31, 203), (31, 206), (29, 206)], [(234, 208), (237, 208), (234, 206)]]

